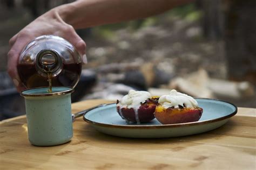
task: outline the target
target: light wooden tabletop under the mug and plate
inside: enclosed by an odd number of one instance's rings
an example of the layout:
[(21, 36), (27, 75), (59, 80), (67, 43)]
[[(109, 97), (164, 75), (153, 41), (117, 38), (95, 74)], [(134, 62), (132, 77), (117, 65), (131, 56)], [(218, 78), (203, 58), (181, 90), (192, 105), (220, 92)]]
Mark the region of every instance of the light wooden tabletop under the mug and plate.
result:
[[(72, 104), (77, 112), (104, 100)], [(25, 116), (0, 122), (0, 169), (255, 169), (256, 109), (238, 114), (217, 130), (166, 139), (129, 139), (97, 132), (78, 118), (67, 144), (29, 143)]]

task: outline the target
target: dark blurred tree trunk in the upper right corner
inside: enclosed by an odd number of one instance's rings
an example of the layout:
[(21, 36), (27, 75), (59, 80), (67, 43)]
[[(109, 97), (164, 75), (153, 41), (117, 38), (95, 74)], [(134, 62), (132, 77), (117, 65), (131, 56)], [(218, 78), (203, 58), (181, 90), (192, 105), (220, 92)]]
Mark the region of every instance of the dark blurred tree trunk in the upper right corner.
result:
[(256, 1), (226, 1), (225, 49), (228, 76), (256, 84)]

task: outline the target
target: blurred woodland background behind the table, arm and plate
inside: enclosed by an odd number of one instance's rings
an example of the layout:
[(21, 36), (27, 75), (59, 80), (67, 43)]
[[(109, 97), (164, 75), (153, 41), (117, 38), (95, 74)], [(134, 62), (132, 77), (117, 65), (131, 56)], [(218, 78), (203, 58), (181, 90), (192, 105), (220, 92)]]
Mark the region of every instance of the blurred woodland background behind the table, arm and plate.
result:
[[(6, 73), (8, 41), (55, 6), (72, 1), (0, 0), (0, 120), (25, 114)], [(72, 102), (117, 100), (130, 89), (177, 89), (256, 108), (256, 2), (207, 1), (161, 15), (77, 30), (87, 44)]]

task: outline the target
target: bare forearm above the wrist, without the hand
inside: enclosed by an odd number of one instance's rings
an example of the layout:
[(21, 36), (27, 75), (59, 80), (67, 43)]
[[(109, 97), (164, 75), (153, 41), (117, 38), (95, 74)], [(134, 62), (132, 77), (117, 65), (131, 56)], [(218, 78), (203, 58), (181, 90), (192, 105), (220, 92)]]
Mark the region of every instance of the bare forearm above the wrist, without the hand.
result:
[(54, 9), (63, 20), (81, 29), (145, 18), (164, 12), (191, 0), (87, 0)]

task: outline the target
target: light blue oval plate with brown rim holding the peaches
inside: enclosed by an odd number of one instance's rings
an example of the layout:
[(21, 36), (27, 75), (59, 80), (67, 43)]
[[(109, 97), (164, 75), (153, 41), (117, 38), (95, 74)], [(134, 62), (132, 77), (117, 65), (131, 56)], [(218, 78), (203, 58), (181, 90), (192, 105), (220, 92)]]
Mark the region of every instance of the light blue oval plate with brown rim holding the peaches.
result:
[(116, 104), (108, 104), (90, 110), (84, 121), (96, 130), (113, 136), (128, 138), (168, 138), (207, 132), (224, 125), (237, 114), (237, 107), (224, 101), (196, 98), (199, 107), (204, 109), (198, 122), (179, 124), (160, 124), (157, 119), (143, 124), (127, 124), (117, 111)]

